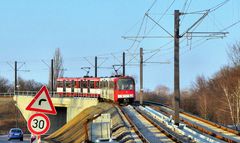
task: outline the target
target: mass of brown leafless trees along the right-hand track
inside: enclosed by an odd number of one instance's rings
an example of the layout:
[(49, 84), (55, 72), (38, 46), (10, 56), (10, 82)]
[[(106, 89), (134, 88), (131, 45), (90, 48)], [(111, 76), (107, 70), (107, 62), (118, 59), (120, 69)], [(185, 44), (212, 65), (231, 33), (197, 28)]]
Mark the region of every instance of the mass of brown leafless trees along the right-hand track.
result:
[[(182, 106), (185, 110), (194, 107), (196, 100), (196, 112), (203, 118), (221, 123), (234, 125), (236, 129), (240, 125), (240, 42), (233, 45), (228, 51), (231, 66), (222, 67), (210, 79), (204, 76), (197, 77), (191, 89), (191, 96), (183, 97)], [(188, 102), (186, 101), (187, 99)]]

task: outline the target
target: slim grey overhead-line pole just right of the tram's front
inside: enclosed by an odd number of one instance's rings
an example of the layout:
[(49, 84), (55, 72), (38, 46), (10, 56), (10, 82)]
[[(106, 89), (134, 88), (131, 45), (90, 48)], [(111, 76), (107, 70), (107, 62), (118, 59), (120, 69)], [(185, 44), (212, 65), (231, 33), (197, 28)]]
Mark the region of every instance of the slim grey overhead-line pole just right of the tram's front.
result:
[(140, 105), (143, 104), (143, 48), (140, 48)]

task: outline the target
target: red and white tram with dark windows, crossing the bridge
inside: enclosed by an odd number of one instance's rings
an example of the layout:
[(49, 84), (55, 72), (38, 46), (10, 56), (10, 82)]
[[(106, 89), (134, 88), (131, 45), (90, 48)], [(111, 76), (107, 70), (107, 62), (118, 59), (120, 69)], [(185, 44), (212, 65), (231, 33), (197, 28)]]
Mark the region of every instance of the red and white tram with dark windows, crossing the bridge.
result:
[(130, 76), (58, 78), (60, 96), (94, 97), (118, 103), (132, 103), (135, 99), (135, 81)]

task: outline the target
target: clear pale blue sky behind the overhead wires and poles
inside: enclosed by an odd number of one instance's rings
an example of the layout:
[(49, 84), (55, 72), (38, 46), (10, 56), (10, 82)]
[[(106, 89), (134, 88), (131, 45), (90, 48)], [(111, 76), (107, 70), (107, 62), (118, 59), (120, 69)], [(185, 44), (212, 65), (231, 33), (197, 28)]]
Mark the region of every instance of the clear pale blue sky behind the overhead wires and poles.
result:
[[(209, 9), (223, 2), (209, 0), (175, 0), (159, 24), (173, 34), (173, 12), (175, 9), (193, 12)], [(139, 84), (139, 47), (144, 48), (144, 59), (148, 62), (170, 64), (144, 64), (144, 87), (154, 89), (157, 85), (166, 85), (173, 89), (173, 43), (172, 38), (145, 38), (136, 42), (123, 39), (122, 36), (139, 35), (168, 36), (161, 28), (144, 17), (153, 0), (1, 0), (0, 1), (0, 76), (14, 79), (11, 66), (13, 62), (25, 62), (19, 75), (25, 79), (34, 79), (47, 83), (48, 66), (56, 48), (60, 48), (64, 59), (65, 76), (79, 77), (85, 72), (81, 67), (91, 66), (85, 59), (94, 63), (99, 56), (102, 67), (120, 64), (121, 55), (126, 51), (128, 75), (137, 78)], [(156, 21), (163, 15), (173, 1), (157, 0), (149, 11)], [(240, 20), (240, 1), (229, 0), (201, 22), (196, 31), (220, 31)], [(180, 32), (184, 32), (201, 15), (181, 16)], [(144, 18), (143, 18), (144, 17)], [(143, 22), (142, 22), (143, 21)], [(150, 31), (150, 32), (149, 32)], [(230, 29), (227, 37), (209, 39), (188, 37), (181, 42), (181, 88), (189, 88), (198, 75), (211, 77), (221, 67), (229, 63), (229, 46), (240, 39), (240, 24)], [(191, 39), (191, 40), (190, 40)], [(203, 42), (202, 42), (203, 41)], [(137, 55), (133, 60), (132, 57)], [(111, 69), (99, 69), (100, 76), (108, 76)], [(92, 68), (90, 74), (94, 75)]]

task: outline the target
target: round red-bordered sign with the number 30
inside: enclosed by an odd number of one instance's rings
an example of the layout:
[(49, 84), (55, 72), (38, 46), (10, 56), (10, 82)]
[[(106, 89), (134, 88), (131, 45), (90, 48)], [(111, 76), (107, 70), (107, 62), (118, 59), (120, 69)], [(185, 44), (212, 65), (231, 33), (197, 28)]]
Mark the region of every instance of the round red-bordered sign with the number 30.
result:
[(33, 114), (28, 119), (28, 130), (35, 135), (45, 134), (50, 128), (50, 121), (48, 116), (42, 113)]

